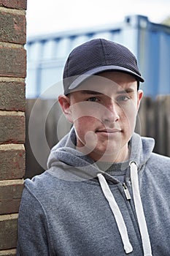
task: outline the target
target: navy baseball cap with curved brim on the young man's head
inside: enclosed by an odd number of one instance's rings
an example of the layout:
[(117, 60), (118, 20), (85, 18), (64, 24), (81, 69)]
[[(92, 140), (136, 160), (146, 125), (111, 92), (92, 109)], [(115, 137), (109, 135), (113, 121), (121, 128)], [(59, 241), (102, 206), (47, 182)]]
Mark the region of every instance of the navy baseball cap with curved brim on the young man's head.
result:
[(104, 71), (120, 71), (144, 82), (136, 57), (128, 48), (107, 39), (92, 39), (74, 48), (63, 69), (64, 94), (80, 86), (91, 75)]

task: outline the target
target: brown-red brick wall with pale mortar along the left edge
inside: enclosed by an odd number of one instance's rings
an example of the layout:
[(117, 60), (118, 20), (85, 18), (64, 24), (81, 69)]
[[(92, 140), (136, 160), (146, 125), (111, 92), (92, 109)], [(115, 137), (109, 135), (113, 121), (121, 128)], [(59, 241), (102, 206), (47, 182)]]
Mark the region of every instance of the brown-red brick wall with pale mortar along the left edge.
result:
[(0, 256), (16, 255), (25, 173), (26, 0), (0, 0)]

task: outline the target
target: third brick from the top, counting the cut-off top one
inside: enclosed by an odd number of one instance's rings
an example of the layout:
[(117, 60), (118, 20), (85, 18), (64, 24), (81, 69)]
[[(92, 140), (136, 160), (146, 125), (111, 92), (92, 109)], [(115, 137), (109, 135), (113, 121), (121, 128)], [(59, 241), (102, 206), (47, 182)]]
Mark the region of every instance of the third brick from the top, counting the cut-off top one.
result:
[(0, 48), (0, 76), (26, 78), (26, 50), (23, 48)]

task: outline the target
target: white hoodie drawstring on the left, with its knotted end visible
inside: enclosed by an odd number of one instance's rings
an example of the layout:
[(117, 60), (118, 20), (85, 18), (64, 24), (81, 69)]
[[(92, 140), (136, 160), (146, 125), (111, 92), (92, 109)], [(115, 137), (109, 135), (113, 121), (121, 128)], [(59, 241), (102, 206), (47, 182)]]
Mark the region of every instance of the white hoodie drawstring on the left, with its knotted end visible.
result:
[(128, 231), (125, 226), (125, 222), (123, 220), (123, 216), (120, 212), (120, 208), (117, 206), (117, 203), (115, 201), (115, 197), (112, 195), (112, 192), (109, 189), (109, 186), (107, 184), (107, 181), (105, 180), (104, 176), (101, 173), (98, 173), (98, 181), (101, 185), (101, 189), (104, 193), (104, 196), (106, 197), (109, 206), (112, 210), (112, 213), (114, 214), (118, 230), (120, 232), (120, 236), (123, 241), (123, 246), (125, 249), (125, 253), (128, 254), (133, 251), (133, 248), (131, 246), (131, 243), (128, 239)]

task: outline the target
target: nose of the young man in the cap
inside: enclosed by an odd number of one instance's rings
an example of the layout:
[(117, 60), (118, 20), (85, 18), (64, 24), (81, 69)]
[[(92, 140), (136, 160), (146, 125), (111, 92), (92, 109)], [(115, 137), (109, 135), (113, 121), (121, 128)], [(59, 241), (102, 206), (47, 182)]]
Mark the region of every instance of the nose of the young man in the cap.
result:
[(108, 104), (104, 108), (104, 113), (102, 116), (102, 121), (107, 123), (115, 123), (120, 119), (119, 113), (118, 113), (118, 106), (116, 102), (109, 101)]

